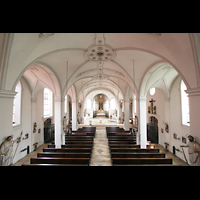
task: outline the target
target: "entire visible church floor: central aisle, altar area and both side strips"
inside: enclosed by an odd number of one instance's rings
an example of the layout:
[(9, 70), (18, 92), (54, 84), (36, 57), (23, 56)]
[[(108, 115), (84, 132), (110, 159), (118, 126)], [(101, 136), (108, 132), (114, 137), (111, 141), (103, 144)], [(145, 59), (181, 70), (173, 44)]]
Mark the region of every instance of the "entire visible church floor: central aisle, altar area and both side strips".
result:
[[(110, 120), (107, 118), (94, 118), (85, 120), (85, 124), (79, 124), (79, 127), (89, 126), (90, 120), (92, 120), (92, 126), (96, 126), (96, 136), (94, 138), (94, 146), (92, 151), (92, 157), (90, 160), (90, 166), (111, 166), (111, 158), (108, 147), (108, 139), (106, 136), (106, 126), (119, 126), (123, 127), (123, 124), (117, 124), (116, 121)], [(46, 148), (48, 145), (41, 145), (37, 151), (33, 151), (18, 162), (15, 163), (15, 166), (21, 166), (23, 163), (29, 164), (31, 157), (37, 157), (38, 152), (42, 152), (43, 148)], [(156, 148), (160, 149), (160, 152), (164, 152), (166, 154), (166, 158), (172, 158), (173, 164), (187, 166), (187, 164), (179, 159), (177, 156), (165, 150), (159, 144), (155, 144)]]

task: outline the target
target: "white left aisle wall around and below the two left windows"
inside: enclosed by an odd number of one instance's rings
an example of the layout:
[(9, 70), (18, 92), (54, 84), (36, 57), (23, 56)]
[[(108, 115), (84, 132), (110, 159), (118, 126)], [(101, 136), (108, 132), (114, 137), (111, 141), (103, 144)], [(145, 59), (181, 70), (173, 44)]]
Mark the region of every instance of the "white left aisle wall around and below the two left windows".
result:
[[(43, 118), (43, 90), (37, 94), (35, 99), (31, 99), (30, 89), (23, 78), (21, 78), (21, 84), (21, 125), (13, 127), (12, 134), (14, 135), (14, 139), (19, 137), (21, 131), (23, 131), (23, 135), (14, 158), (14, 163), (27, 155), (27, 151), (20, 152), (22, 149), (29, 146), (30, 152), (32, 152), (34, 150), (33, 144), (35, 142), (38, 142), (38, 147), (44, 144), (44, 121), (46, 119)], [(33, 133), (33, 125), (35, 122), (37, 124), (37, 131)], [(54, 123), (54, 118), (52, 119), (52, 123)], [(40, 133), (38, 133), (39, 129)], [(28, 139), (23, 139), (27, 133), (29, 134)], [(16, 146), (17, 144), (14, 145), (14, 152)]]

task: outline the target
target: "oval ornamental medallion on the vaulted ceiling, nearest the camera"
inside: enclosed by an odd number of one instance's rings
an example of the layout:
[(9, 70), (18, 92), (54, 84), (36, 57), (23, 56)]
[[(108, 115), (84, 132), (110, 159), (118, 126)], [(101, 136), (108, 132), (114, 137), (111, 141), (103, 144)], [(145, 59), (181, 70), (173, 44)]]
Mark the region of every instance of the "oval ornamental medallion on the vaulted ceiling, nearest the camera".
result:
[(90, 47), (87, 51), (87, 57), (93, 61), (107, 61), (114, 58), (114, 51), (108, 47), (103, 45), (95, 45)]

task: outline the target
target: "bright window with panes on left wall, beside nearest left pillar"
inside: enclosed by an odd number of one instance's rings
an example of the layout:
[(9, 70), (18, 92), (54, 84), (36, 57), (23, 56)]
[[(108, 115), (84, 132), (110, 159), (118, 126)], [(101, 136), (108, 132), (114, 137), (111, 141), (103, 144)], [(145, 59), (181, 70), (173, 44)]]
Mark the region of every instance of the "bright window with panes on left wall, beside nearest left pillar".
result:
[(53, 115), (53, 92), (44, 88), (44, 117)]

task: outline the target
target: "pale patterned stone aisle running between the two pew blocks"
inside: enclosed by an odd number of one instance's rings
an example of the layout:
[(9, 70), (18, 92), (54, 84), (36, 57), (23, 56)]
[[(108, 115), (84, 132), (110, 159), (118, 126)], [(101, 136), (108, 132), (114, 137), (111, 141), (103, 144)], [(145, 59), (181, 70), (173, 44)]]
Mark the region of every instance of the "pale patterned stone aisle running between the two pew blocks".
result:
[(112, 166), (105, 127), (96, 127), (90, 166)]

